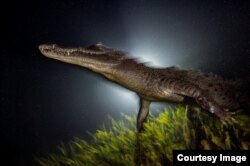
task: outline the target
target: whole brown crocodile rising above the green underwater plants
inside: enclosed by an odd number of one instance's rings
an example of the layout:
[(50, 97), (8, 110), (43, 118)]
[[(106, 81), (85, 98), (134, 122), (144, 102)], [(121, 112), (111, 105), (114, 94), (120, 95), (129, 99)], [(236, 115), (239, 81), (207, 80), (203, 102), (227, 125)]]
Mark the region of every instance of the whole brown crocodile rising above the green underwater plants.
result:
[(138, 94), (140, 109), (136, 126), (139, 132), (154, 101), (192, 101), (222, 121), (232, 118), (231, 110), (249, 105), (249, 99), (222, 77), (178, 67), (151, 67), (100, 42), (85, 48), (41, 44), (39, 50), (48, 58), (87, 68)]

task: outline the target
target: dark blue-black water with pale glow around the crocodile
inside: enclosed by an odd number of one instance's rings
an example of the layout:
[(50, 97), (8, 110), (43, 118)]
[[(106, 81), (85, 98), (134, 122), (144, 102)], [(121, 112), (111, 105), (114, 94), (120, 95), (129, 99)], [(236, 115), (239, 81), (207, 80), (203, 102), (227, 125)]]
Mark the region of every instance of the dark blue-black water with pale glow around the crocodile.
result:
[(44, 58), (37, 46), (102, 41), (151, 61), (227, 78), (250, 76), (249, 9), (243, 1), (34, 1), (4, 6), (0, 149), (7, 165), (73, 137), (89, 139), (107, 115), (136, 114), (138, 98), (93, 73)]

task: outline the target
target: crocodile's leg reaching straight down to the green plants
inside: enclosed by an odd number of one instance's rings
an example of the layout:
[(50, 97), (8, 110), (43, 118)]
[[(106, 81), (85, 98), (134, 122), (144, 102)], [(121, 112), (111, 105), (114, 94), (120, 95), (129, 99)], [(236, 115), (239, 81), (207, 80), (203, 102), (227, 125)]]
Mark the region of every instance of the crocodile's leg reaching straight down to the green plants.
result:
[(137, 131), (139, 133), (143, 130), (143, 123), (148, 116), (150, 103), (150, 101), (140, 98), (140, 110), (137, 115)]

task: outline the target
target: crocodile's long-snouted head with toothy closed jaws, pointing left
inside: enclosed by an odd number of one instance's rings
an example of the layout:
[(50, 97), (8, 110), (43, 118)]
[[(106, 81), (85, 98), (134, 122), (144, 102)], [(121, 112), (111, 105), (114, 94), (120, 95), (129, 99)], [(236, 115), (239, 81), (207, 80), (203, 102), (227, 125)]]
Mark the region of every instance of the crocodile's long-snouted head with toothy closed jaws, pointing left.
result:
[(79, 65), (98, 73), (120, 64), (124, 54), (104, 46), (102, 43), (86, 48), (63, 48), (56, 44), (39, 45), (41, 53), (52, 59)]

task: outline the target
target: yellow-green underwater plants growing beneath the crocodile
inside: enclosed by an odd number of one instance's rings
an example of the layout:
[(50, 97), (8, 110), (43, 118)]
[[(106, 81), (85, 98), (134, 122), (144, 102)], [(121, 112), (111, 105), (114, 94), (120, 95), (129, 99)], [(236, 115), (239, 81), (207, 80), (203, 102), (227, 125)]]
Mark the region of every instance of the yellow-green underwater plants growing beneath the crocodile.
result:
[[(110, 118), (111, 126), (91, 134), (92, 141), (75, 138), (59, 146), (57, 153), (38, 158), (41, 166), (171, 165), (172, 150), (250, 149), (250, 117), (234, 115), (237, 123), (221, 123), (205, 111), (178, 106), (149, 115), (142, 133), (136, 132), (135, 116)], [(140, 147), (139, 154), (137, 147)]]

